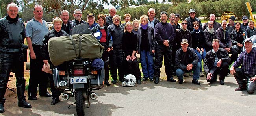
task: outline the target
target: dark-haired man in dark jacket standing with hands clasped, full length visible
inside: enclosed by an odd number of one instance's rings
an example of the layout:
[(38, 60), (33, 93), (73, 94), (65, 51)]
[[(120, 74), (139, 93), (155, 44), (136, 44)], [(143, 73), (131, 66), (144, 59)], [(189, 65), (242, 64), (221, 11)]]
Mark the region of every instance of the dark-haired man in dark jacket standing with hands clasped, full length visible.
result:
[(155, 84), (159, 82), (160, 68), (165, 65), (165, 73), (167, 75), (167, 81), (176, 82), (173, 79), (171, 70), (174, 69), (172, 65), (172, 52), (171, 52), (171, 42), (174, 40), (174, 30), (170, 23), (167, 23), (168, 14), (166, 12), (160, 13), (161, 22), (157, 23), (154, 30), (154, 36), (156, 40), (155, 50), (156, 50), (156, 60), (154, 66)]

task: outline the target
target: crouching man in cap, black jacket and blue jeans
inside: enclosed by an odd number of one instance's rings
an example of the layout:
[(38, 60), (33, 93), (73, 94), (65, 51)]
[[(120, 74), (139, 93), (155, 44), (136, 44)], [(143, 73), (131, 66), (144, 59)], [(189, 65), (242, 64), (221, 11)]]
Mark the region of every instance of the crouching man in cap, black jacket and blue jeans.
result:
[(199, 79), (199, 72), (201, 68), (201, 64), (198, 62), (198, 56), (193, 50), (193, 48), (188, 47), (188, 40), (182, 39), (181, 48), (176, 51), (175, 56), (175, 65), (176, 65), (176, 75), (179, 79), (179, 84), (183, 83), (183, 74), (192, 72), (193, 73), (193, 84), (200, 85), (200, 82), (198, 82)]

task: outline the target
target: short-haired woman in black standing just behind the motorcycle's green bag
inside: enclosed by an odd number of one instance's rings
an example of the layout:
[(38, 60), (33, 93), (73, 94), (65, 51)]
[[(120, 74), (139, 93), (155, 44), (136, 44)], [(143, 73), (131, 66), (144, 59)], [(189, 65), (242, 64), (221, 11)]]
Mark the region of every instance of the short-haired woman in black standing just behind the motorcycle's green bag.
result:
[[(54, 29), (47, 32), (43, 39), (41, 54), (43, 56), (44, 63), (47, 64), (47, 62), (49, 62), (51, 67), (53, 65), (52, 65), (52, 62), (50, 61), (49, 52), (48, 52), (49, 39), (51, 39), (52, 37), (69, 36), (69, 34), (67, 34), (65, 31), (61, 30), (61, 25), (62, 25), (62, 20), (60, 18), (55, 18), (53, 20)], [(61, 95), (62, 91), (59, 91), (54, 87), (54, 81), (53, 81), (52, 74), (49, 74), (48, 77), (50, 78), (50, 87), (51, 87), (51, 91), (52, 91), (51, 105), (55, 105), (59, 102), (59, 95)]]

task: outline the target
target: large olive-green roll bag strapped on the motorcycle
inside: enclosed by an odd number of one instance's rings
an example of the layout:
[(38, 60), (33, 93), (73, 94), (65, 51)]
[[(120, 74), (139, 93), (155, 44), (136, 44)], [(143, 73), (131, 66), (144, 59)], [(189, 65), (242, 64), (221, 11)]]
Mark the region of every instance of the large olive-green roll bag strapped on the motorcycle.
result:
[(101, 58), (103, 50), (104, 47), (91, 34), (53, 37), (48, 41), (50, 60), (55, 66), (79, 58)]

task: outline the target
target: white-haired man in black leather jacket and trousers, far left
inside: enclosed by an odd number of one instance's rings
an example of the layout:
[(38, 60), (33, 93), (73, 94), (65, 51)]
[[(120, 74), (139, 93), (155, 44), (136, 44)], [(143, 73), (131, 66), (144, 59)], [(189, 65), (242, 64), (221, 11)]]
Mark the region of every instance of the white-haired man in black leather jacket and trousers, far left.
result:
[(25, 39), (25, 25), (19, 20), (19, 7), (11, 3), (7, 14), (0, 19), (0, 113), (4, 112), (6, 86), (11, 70), (15, 67), (18, 106), (31, 108), (26, 102), (22, 44)]

